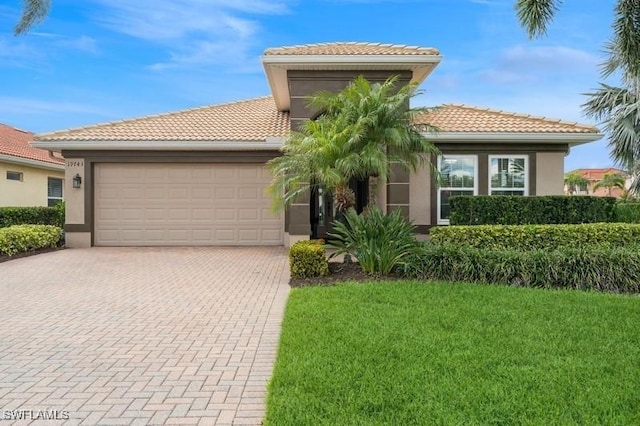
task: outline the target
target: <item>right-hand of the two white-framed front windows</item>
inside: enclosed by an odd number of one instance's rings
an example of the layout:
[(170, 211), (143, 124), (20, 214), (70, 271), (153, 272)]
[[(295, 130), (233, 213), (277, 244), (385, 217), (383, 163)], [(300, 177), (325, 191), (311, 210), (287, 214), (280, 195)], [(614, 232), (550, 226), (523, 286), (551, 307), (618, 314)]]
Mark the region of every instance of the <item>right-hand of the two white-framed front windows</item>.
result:
[(528, 157), (489, 156), (489, 195), (528, 195)]

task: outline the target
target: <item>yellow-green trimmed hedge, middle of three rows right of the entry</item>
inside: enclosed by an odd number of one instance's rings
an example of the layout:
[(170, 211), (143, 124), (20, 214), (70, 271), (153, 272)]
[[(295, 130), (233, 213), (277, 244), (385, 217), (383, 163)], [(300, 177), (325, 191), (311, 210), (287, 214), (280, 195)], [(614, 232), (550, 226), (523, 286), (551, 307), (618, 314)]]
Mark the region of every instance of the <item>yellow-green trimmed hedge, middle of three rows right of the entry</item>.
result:
[(582, 225), (478, 225), (431, 228), (435, 244), (482, 249), (555, 250), (614, 248), (640, 245), (640, 225), (587, 223)]

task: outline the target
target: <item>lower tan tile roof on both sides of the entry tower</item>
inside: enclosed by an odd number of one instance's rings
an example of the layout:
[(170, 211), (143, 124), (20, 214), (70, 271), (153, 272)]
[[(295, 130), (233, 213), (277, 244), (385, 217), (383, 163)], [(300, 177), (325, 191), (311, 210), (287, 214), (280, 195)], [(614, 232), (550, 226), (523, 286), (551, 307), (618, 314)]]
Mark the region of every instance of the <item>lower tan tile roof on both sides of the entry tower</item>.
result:
[[(598, 133), (592, 126), (467, 105), (442, 105), (416, 119), (440, 132)], [(272, 97), (206, 106), (36, 136), (39, 141), (264, 141), (285, 136), (289, 113)]]

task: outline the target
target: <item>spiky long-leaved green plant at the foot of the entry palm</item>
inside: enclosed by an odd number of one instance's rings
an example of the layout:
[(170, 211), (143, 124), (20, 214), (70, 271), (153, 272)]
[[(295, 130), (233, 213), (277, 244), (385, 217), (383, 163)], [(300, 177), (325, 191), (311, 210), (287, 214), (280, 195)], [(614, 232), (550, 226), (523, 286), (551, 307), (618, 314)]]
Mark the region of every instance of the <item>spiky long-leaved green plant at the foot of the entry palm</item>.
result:
[(385, 214), (374, 207), (366, 214), (358, 214), (351, 209), (344, 220), (333, 222), (328, 244), (336, 251), (331, 256), (352, 255), (368, 274), (390, 274), (416, 246), (415, 226), (399, 210)]

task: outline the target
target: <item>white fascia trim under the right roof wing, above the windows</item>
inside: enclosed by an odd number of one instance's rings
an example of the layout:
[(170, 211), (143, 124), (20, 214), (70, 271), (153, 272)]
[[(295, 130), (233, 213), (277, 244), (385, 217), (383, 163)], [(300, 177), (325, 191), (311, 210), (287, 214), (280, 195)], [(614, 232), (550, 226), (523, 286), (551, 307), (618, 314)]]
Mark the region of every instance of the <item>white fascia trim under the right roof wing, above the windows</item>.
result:
[(519, 133), (519, 132), (423, 132), (422, 135), (434, 142), (551, 142), (579, 145), (602, 139), (602, 133)]

